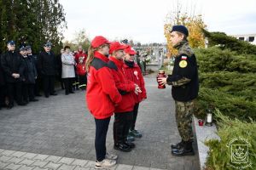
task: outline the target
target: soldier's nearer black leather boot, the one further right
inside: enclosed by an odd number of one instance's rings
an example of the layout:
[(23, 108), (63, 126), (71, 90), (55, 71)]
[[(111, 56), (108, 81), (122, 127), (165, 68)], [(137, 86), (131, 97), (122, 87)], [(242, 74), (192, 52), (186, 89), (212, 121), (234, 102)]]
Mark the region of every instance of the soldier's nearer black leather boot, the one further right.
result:
[(172, 150), (172, 156), (194, 156), (195, 151), (192, 147), (192, 142), (184, 142), (182, 148)]

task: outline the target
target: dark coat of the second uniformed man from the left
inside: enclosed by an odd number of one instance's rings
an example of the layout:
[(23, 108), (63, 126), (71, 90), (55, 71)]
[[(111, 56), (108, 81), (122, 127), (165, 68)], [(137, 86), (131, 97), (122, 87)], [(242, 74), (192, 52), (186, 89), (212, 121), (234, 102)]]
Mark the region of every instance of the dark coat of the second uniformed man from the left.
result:
[(28, 56), (26, 58), (22, 56), (22, 58), (25, 62), (25, 69), (23, 73), (25, 79), (24, 82), (31, 84), (36, 83), (36, 77), (38, 76), (38, 72), (34, 63), (34, 59), (32, 58), (32, 56)]

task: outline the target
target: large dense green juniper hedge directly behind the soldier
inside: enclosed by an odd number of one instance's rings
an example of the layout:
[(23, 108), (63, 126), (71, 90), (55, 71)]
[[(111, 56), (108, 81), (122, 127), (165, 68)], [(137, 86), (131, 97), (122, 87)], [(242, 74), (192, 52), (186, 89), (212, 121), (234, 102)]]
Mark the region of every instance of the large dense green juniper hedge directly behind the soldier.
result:
[(203, 118), (213, 105), (225, 116), (256, 120), (256, 55), (217, 47), (197, 49), (195, 54), (201, 85), (195, 115)]

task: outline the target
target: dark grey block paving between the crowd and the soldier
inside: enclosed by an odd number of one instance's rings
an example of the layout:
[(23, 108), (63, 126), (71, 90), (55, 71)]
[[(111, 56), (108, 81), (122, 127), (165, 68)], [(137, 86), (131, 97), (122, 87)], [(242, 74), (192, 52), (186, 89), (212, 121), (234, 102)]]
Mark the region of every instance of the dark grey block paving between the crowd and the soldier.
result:
[[(180, 140), (174, 116), (174, 101), (171, 87), (158, 89), (154, 76), (145, 77), (148, 99), (139, 107), (137, 130), (143, 133), (136, 139), (137, 147), (130, 153), (113, 150), (113, 118), (109, 124), (107, 150), (119, 155), (118, 164), (137, 167), (173, 169), (180, 162), (171, 155), (170, 145)], [(0, 111), (0, 161), (2, 156), (37, 160), (34, 163), (58, 163), (61, 159), (49, 156), (68, 157), (83, 161), (62, 162), (66, 165), (81, 165), (95, 162), (94, 149), (95, 122), (85, 105), (84, 92), (65, 95), (57, 90), (57, 96), (41, 97), (38, 102), (26, 106), (16, 106)], [(23, 155), (21, 152), (28, 152)], [(7, 157), (3, 157), (7, 158)], [(49, 161), (45, 161), (49, 159)], [(51, 160), (50, 160), (51, 159)], [(196, 170), (196, 156), (187, 156)], [(58, 161), (57, 161), (58, 160)], [(84, 162), (89, 160), (89, 162)], [(40, 163), (39, 163), (40, 162)], [(70, 164), (69, 164), (70, 163)], [(32, 165), (33, 165), (32, 164)], [(84, 165), (84, 166), (82, 166)], [(194, 166), (195, 165), (195, 166)], [(36, 166), (37, 167), (37, 166)], [(76, 167), (77, 168), (77, 167)]]

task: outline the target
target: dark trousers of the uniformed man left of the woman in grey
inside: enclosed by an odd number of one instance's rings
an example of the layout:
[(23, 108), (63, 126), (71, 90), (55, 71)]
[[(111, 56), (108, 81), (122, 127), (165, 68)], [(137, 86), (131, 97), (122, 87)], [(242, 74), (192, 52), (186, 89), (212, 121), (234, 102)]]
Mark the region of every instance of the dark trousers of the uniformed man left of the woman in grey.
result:
[(49, 96), (49, 94), (55, 93), (55, 76), (44, 75), (44, 95)]

